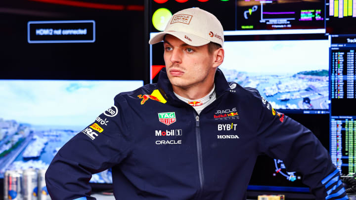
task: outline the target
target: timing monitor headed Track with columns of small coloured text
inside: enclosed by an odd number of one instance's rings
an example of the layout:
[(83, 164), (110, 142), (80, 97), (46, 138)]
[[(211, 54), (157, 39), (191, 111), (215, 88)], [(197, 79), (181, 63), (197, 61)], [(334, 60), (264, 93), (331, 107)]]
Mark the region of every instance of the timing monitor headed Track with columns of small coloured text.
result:
[(343, 175), (356, 172), (355, 36), (333, 35), (330, 47), (330, 155)]

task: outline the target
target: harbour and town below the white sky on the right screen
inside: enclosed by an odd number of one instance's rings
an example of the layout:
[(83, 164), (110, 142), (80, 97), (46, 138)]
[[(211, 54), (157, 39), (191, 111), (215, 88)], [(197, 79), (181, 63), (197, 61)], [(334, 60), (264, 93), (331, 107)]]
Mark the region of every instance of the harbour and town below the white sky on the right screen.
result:
[(300, 72), (292, 76), (255, 75), (223, 70), (226, 79), (259, 90), (275, 109), (328, 109), (327, 70)]

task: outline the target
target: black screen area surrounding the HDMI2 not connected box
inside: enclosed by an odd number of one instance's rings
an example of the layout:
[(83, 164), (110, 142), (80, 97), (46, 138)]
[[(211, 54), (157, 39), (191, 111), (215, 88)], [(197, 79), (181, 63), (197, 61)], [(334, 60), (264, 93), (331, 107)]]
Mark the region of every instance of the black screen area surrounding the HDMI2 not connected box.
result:
[[(142, 10), (1, 0), (0, 79), (147, 81), (143, 0), (97, 2), (136, 4)], [(93, 43), (28, 43), (28, 21), (52, 20), (94, 20), (96, 40)]]

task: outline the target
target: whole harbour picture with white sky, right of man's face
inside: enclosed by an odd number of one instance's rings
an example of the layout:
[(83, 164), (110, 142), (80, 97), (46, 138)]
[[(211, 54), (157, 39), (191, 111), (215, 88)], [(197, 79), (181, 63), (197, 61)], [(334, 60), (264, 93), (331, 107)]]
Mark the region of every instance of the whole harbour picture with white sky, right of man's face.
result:
[(329, 108), (329, 41), (225, 41), (227, 81), (256, 88), (274, 109)]

